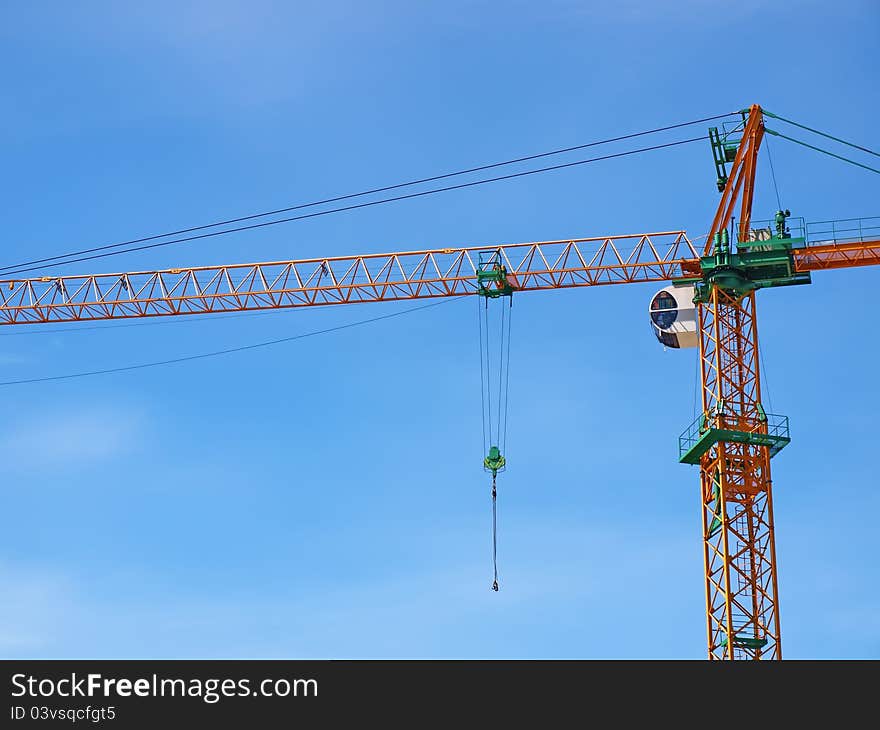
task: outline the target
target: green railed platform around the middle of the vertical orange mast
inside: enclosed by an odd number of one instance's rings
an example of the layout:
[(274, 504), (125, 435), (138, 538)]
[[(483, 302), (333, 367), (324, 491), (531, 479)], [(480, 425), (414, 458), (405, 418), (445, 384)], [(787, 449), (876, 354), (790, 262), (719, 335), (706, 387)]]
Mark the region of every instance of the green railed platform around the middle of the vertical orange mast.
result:
[(765, 413), (763, 408), (756, 418), (738, 418), (738, 428), (725, 426), (724, 416), (714, 420), (718, 423), (708, 425), (706, 416), (701, 415), (679, 437), (679, 463), (699, 464), (703, 455), (721, 442), (766, 446), (771, 458), (791, 443), (788, 416)]

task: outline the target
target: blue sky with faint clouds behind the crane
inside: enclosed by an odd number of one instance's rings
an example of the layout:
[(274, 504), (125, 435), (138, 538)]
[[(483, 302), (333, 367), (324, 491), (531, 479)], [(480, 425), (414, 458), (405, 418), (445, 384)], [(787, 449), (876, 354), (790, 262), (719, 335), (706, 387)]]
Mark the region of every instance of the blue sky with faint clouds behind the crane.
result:
[[(869, 146), (880, 114), (870, 0), (33, 2), (2, 21), (6, 264), (753, 102)], [(880, 214), (873, 175), (770, 145), (795, 215)], [(696, 236), (717, 198), (698, 144), (64, 271)], [(759, 296), (794, 437), (773, 465), (792, 658), (880, 655), (878, 284)], [(655, 288), (516, 297), (498, 594), (472, 301), (0, 388), (0, 655), (703, 657), (697, 472), (676, 460), (696, 356), (653, 340)], [(0, 380), (406, 307), (7, 329)]]

